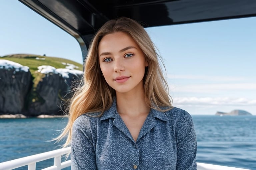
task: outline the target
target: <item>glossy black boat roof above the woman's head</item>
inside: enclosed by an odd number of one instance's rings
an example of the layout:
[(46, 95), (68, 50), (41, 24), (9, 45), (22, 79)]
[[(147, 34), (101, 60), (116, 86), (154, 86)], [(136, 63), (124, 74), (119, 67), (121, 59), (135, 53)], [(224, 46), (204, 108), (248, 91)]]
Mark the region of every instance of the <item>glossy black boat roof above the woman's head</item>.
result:
[(112, 18), (129, 17), (153, 27), (256, 16), (255, 0), (19, 1), (74, 36), (82, 51), (87, 51), (93, 34)]

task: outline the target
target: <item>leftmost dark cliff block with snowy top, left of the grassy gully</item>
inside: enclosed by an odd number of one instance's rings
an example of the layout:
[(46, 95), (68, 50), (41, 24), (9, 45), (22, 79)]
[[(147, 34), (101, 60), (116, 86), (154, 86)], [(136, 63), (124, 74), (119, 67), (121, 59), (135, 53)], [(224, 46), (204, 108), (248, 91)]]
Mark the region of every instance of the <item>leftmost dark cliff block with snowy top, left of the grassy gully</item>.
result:
[(0, 113), (22, 113), (31, 86), (28, 67), (0, 60)]

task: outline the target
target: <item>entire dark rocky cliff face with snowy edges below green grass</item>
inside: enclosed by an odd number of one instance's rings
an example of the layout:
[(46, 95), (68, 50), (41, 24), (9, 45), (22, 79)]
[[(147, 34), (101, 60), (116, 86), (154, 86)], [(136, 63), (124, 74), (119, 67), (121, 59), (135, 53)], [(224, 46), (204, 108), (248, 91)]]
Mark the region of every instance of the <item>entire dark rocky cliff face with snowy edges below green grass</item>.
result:
[[(42, 65), (29, 67), (0, 60), (0, 115), (61, 115), (61, 102), (72, 95), (72, 85), (82, 71)], [(62, 108), (63, 109), (63, 108)]]

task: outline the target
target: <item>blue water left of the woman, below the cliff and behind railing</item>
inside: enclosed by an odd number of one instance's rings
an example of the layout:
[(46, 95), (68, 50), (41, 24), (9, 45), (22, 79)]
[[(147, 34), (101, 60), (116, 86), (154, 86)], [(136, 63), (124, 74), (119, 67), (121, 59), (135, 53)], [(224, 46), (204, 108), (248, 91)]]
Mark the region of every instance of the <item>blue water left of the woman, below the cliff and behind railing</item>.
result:
[[(67, 118), (0, 119), (0, 162), (60, 149), (63, 142), (50, 140), (57, 137), (66, 123)], [(36, 163), (36, 170), (52, 165), (53, 158)], [(27, 169), (24, 166), (15, 170)]]

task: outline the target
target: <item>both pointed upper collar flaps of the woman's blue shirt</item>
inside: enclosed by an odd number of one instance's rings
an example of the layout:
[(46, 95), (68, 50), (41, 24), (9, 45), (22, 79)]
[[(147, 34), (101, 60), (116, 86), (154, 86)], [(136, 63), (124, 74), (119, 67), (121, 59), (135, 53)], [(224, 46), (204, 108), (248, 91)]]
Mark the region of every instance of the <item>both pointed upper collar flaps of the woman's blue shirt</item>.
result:
[[(114, 98), (111, 107), (103, 113), (103, 115), (100, 118), (100, 121), (103, 121), (109, 118), (115, 118), (116, 114), (118, 113), (116, 110), (116, 98)], [(169, 121), (165, 113), (162, 111), (158, 111), (156, 109), (151, 108), (149, 114), (151, 114), (154, 118), (161, 119), (162, 121)]]

